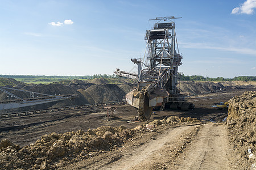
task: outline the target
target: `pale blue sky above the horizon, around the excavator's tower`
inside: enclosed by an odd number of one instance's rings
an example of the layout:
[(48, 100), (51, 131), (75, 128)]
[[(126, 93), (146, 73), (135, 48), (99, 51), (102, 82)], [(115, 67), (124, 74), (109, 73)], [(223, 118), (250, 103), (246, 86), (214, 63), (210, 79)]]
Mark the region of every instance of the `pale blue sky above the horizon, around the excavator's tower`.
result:
[(256, 0), (0, 0), (0, 74), (93, 75), (133, 69), (146, 29), (175, 19), (185, 75), (256, 75)]

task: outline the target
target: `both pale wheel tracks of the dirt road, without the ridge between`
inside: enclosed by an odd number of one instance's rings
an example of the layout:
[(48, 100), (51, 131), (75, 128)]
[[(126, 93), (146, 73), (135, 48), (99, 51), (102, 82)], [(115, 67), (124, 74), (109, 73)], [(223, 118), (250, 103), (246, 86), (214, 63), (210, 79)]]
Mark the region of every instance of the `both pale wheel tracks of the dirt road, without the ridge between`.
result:
[[(205, 124), (185, 152), (170, 164), (170, 148), (179, 147), (181, 138), (187, 137), (195, 127), (181, 126), (168, 129), (150, 143), (126, 152), (116, 162), (101, 169), (232, 169), (229, 163), (228, 135), (224, 125)], [(181, 140), (180, 140), (181, 139)], [(182, 146), (181, 146), (182, 148)], [(184, 146), (183, 146), (184, 148)], [(176, 153), (173, 153), (176, 154)], [(233, 168), (235, 169), (235, 168)]]

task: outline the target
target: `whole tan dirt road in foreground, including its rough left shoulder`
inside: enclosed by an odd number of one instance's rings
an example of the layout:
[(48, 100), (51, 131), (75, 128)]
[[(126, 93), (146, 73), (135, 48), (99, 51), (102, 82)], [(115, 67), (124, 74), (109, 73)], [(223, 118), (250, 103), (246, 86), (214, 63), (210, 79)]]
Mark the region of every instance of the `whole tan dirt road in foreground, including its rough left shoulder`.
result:
[(61, 169), (236, 169), (224, 124), (168, 127), (142, 138)]

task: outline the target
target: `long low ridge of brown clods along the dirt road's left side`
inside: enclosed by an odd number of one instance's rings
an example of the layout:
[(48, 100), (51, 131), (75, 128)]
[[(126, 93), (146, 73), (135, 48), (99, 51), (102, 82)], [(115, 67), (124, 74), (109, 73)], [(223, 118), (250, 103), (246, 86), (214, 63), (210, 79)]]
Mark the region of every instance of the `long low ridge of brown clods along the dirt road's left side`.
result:
[(115, 128), (101, 126), (97, 129), (89, 129), (87, 132), (79, 130), (64, 134), (51, 133), (43, 135), (35, 143), (22, 148), (8, 139), (3, 139), (0, 143), (0, 169), (65, 167), (67, 164), (93, 158), (122, 147), (124, 143), (133, 141), (132, 138), (152, 136), (151, 133), (158, 128), (198, 122), (196, 118), (171, 116), (160, 121), (155, 120), (148, 124), (138, 125), (134, 129), (126, 129), (124, 126)]

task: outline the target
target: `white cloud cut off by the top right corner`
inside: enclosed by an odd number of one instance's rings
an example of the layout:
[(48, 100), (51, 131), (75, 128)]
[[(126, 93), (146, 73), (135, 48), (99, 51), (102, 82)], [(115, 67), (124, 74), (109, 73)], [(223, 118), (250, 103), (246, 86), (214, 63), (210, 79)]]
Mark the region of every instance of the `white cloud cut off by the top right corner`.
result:
[(253, 8), (256, 8), (256, 0), (247, 0), (239, 7), (233, 8), (231, 14), (254, 14)]

